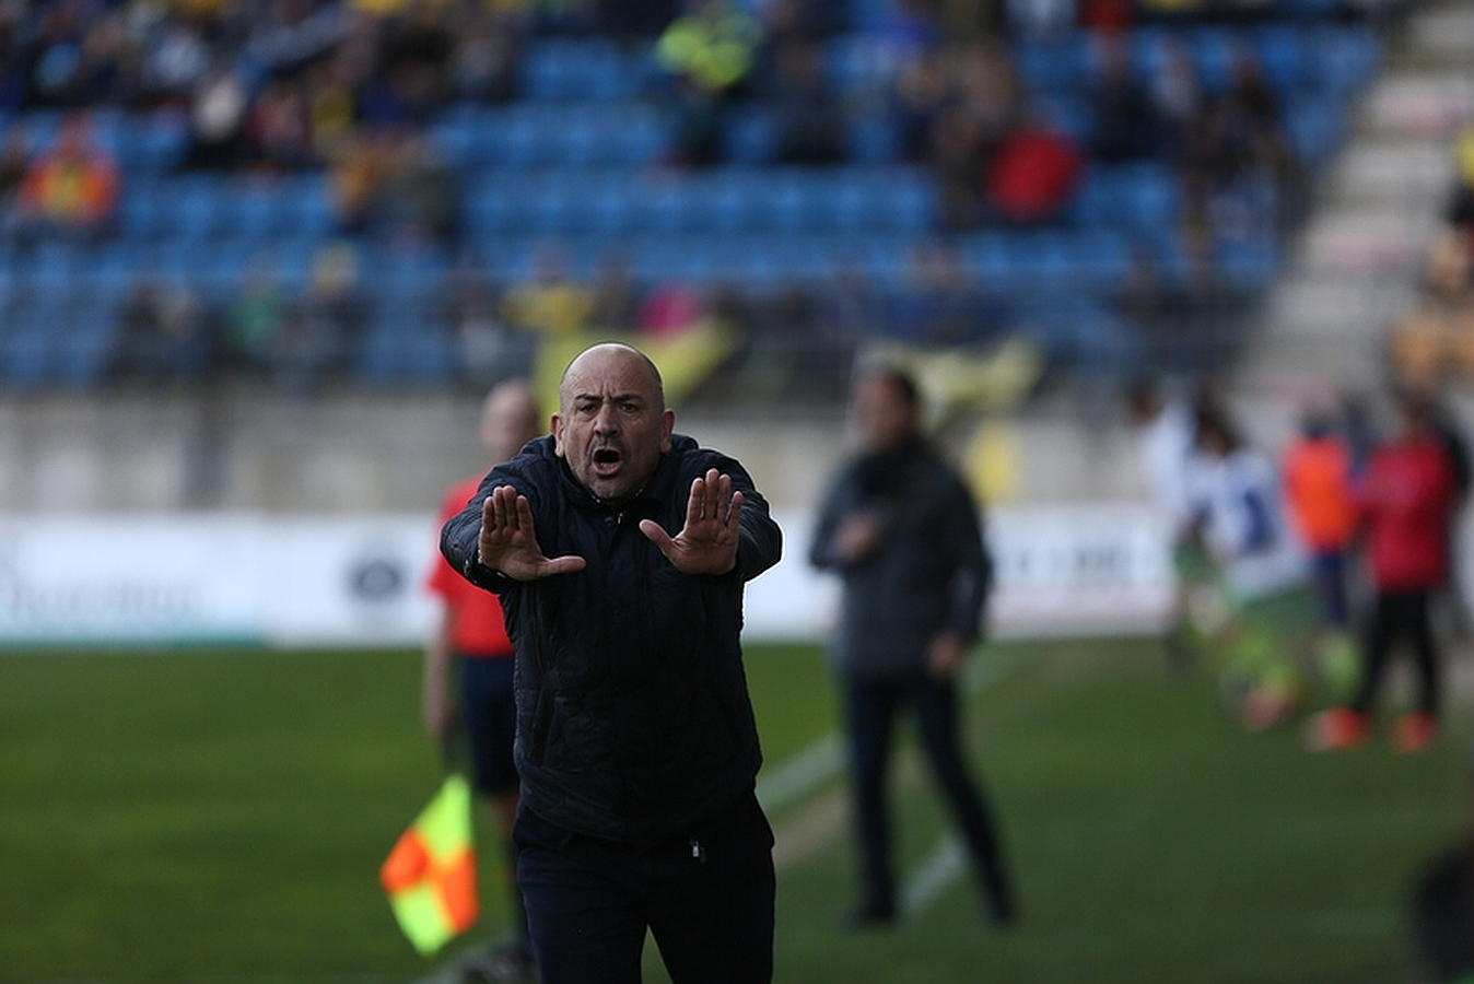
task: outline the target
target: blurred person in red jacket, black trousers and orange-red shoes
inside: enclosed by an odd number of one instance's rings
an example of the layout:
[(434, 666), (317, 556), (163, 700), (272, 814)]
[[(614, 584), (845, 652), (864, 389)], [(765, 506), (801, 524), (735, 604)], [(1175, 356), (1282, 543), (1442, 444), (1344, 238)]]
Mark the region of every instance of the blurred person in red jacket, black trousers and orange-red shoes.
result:
[(1428, 598), (1447, 580), (1447, 524), (1455, 474), (1427, 402), (1403, 398), (1399, 436), (1372, 452), (1358, 488), (1358, 511), (1377, 591), (1362, 644), (1362, 676), (1350, 706), (1312, 720), (1315, 748), (1352, 748), (1366, 739), (1372, 704), (1394, 644), (1412, 644), (1418, 710), (1397, 720), (1393, 744), (1421, 751), (1437, 734), (1439, 650)]

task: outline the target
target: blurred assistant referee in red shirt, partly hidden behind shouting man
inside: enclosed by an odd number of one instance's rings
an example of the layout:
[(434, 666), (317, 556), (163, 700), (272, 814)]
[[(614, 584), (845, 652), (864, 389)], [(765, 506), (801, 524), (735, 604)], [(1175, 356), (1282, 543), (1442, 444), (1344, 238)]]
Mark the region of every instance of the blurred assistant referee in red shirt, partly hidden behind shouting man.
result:
[[(537, 399), (522, 380), (509, 380), (486, 395), (481, 415), (481, 445), (492, 464), (510, 461), (541, 433)], [(481, 474), (455, 483), (445, 493), (439, 524), (460, 513), (476, 495)], [(436, 529), (439, 529), (439, 524)], [(473, 959), (466, 977), (485, 980), (532, 980), (534, 960), (526, 913), (514, 875), (516, 850), (511, 825), (517, 816), (517, 767), (511, 739), (517, 726), (513, 691), (514, 651), (501, 616), (500, 598), (472, 585), (450, 563), (436, 555), (427, 588), (441, 600), (441, 619), (425, 648), (422, 713), (425, 728), (450, 747), (455, 738), (457, 711), (469, 744), (472, 781), (489, 801), (507, 848), (517, 941)], [(460, 700), (450, 692), (453, 667), (460, 675)]]

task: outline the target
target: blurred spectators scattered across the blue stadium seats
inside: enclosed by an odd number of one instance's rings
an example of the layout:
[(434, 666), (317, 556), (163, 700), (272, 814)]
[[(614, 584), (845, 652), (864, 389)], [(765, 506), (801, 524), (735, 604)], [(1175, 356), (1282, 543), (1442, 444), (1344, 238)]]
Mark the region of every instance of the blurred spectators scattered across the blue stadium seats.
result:
[[(753, 359), (780, 354), (792, 384), (808, 349), (850, 351), (871, 334), (926, 345), (986, 345), (1026, 328), (1005, 292), (961, 262), (952, 233), (1039, 230), (1061, 221), (1092, 164), (1167, 162), (1182, 208), (1162, 230), (1182, 256), (1144, 249), (1104, 299), (1148, 358), (1201, 359), (1192, 326), (1231, 334), (1243, 295), (1218, 270), (1215, 242), (1276, 228), (1303, 180), (1276, 88), (1253, 52), (1234, 53), (1231, 84), (1210, 87), (1170, 35), (1162, 71), (1131, 71), (1122, 29), (1142, 22), (1240, 24), (1269, 7), (1125, 0), (967, 4), (895, 0), (867, 24), (874, 88), (836, 84), (824, 44), (853, 29), (852, 4), (821, 0), (50, 0), (0, 3), (0, 236), (106, 240), (128, 174), (83, 112), (32, 134), (32, 110), (164, 110), (187, 121), (174, 166), (242, 183), (320, 169), (333, 239), (304, 287), (254, 264), (231, 296), (165, 278), (140, 259), (113, 376), (214, 377), (217, 370), (302, 384), (346, 377), (379, 302), (355, 256), (364, 245), (429, 250), (451, 271), (420, 308), (447, 331), (458, 373), (523, 370), (538, 337), (569, 326), (669, 333), (721, 318)], [(1086, 32), (1094, 55), (1088, 125), (1044, 112), (1014, 65), (1014, 40)], [(578, 275), (537, 259), (526, 283), (492, 283), (461, 236), (461, 175), (429, 140), (453, 105), (519, 99), (523, 53), (545, 35), (616, 38), (647, 52), (641, 96), (675, 121), (657, 166), (700, 169), (740, 158), (737, 119), (759, 110), (772, 162), (828, 166), (855, 153), (855, 122), (876, 115), (901, 161), (933, 175), (939, 228), (912, 252), (902, 283), (837, 268), (822, 283), (635, 283), (619, 256)], [(874, 66), (873, 66), (874, 68)], [(556, 243), (544, 247), (559, 252)], [(1170, 252), (1170, 250), (1169, 250)], [(1182, 262), (1178, 262), (1182, 261)], [(1182, 267), (1178, 270), (1176, 267)], [(556, 303), (547, 296), (557, 296)], [(537, 299), (528, 302), (526, 298)], [(775, 318), (778, 318), (775, 321)], [(1184, 326), (1188, 326), (1184, 330)], [(802, 339), (794, 346), (793, 340)], [(1207, 349), (1218, 356), (1216, 349)], [(815, 356), (817, 358), (817, 356)], [(1169, 364), (1167, 368), (1178, 368)]]

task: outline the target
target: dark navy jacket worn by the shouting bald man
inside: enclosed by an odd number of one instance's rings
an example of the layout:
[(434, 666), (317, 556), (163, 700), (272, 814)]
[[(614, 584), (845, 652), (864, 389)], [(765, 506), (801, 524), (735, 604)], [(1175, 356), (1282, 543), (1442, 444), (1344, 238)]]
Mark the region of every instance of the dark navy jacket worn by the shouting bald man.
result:
[[(638, 524), (653, 519), (677, 535), (691, 480), (708, 468), (743, 493), (737, 566), (682, 574)], [(514, 582), (478, 561), (482, 501), (501, 485), (528, 496), (542, 554), (576, 554), (584, 570)], [(441, 552), (501, 597), (517, 651), (514, 754), (528, 809), (572, 832), (650, 847), (753, 788), (762, 756), (738, 642), (743, 585), (781, 547), (743, 467), (681, 435), (619, 504), (579, 485), (553, 437), (486, 474), (441, 529)]]

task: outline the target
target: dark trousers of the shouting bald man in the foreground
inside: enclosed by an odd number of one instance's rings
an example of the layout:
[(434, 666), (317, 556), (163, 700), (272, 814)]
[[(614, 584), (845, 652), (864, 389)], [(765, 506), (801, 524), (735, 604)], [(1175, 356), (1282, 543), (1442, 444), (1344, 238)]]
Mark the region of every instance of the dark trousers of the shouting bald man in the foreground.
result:
[(675, 984), (772, 980), (772, 828), (752, 794), (647, 851), (517, 816), (542, 984), (635, 984), (646, 929)]

